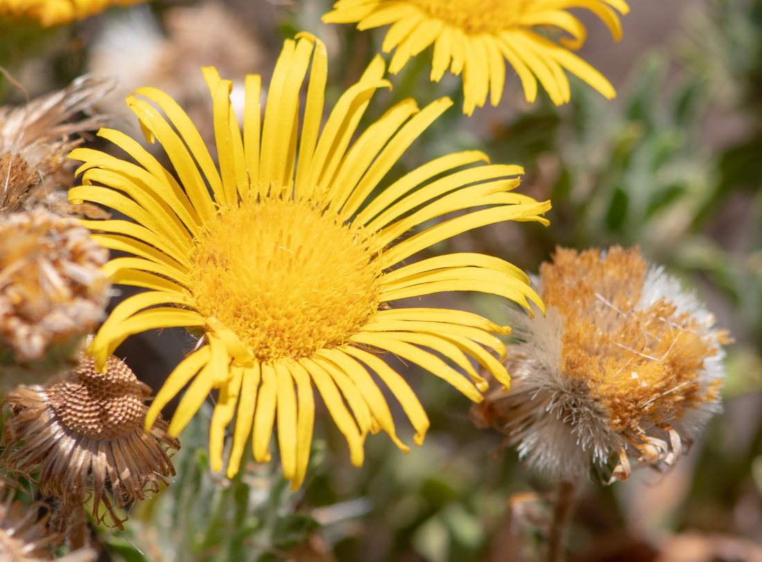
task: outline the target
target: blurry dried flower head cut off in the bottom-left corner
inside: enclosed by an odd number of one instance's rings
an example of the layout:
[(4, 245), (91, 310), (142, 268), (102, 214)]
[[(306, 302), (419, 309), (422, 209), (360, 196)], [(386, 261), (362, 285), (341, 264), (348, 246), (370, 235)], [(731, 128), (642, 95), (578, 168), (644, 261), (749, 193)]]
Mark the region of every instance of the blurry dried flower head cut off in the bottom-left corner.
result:
[[(0, 560), (36, 562), (50, 560), (50, 547), (62, 541), (48, 532), (50, 506), (37, 501), (24, 505), (15, 500), (14, 485), (0, 481)], [(57, 558), (59, 562), (92, 562), (95, 552), (83, 548)]]

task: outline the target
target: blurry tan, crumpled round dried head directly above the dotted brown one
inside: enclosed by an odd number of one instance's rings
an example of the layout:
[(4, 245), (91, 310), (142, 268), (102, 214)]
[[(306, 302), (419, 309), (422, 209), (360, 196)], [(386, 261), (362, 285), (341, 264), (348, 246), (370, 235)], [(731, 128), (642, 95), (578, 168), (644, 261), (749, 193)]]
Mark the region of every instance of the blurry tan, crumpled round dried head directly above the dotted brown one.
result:
[(45, 209), (0, 217), (0, 390), (78, 364), (104, 317), (107, 259), (75, 219)]

